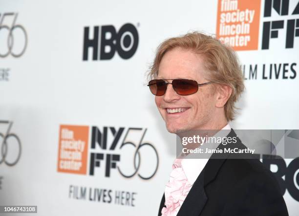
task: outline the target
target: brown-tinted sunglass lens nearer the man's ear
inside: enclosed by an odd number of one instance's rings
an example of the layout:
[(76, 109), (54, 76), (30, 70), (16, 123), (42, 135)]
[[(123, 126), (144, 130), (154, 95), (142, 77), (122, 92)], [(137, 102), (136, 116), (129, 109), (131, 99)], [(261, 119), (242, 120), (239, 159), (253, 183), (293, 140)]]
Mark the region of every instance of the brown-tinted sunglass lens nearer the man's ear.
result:
[(174, 90), (180, 95), (194, 94), (198, 90), (197, 82), (194, 80), (173, 80), (172, 86)]

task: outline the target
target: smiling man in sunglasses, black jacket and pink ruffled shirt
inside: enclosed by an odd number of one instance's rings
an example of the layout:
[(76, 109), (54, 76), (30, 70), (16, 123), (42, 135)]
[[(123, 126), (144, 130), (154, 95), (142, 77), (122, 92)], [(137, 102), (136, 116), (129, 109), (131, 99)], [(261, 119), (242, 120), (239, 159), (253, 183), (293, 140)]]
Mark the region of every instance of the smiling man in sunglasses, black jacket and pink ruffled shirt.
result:
[[(228, 122), (244, 84), (231, 48), (197, 32), (168, 39), (149, 76), (169, 132), (226, 129), (236, 137)], [(239, 139), (236, 145), (246, 148)], [(274, 175), (256, 159), (232, 158), (176, 159), (158, 215), (287, 216)]]

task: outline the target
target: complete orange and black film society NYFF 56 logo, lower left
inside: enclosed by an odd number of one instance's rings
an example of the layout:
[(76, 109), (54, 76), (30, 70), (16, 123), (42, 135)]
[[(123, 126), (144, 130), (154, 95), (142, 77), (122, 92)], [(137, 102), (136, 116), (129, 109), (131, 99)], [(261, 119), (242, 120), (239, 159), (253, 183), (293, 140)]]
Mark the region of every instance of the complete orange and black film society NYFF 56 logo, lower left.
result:
[(150, 179), (159, 157), (146, 141), (146, 132), (146, 128), (60, 125), (57, 171)]

